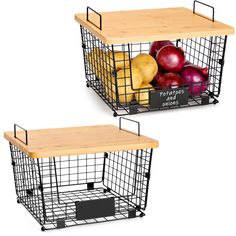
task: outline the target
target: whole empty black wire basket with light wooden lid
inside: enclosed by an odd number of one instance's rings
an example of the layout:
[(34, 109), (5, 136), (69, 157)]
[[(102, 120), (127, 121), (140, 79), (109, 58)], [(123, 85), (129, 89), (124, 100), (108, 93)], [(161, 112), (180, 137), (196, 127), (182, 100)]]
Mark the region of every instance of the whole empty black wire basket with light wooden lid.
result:
[(145, 215), (157, 141), (121, 129), (121, 122), (119, 128), (17, 127), (5, 133), (17, 202), (43, 231)]

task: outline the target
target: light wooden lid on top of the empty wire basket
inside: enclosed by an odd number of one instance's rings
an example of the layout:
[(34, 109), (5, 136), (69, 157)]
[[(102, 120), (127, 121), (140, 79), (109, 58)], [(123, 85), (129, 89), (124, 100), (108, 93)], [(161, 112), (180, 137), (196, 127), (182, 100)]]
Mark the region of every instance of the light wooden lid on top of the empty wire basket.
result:
[[(158, 147), (154, 139), (113, 125), (29, 130), (28, 145), (14, 138), (13, 132), (5, 132), (4, 137), (32, 158)], [(24, 139), (24, 132), (17, 131), (17, 137)]]

